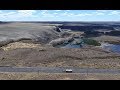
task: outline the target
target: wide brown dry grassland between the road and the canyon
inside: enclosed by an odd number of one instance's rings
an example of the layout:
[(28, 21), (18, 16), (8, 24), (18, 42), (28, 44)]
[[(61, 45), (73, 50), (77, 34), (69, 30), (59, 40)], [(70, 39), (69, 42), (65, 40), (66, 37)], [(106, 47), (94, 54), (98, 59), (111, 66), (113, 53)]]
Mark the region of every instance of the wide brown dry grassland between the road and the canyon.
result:
[(0, 66), (120, 69), (120, 54), (105, 52), (97, 47), (66, 49), (16, 42), (3, 48), (6, 51), (0, 51)]

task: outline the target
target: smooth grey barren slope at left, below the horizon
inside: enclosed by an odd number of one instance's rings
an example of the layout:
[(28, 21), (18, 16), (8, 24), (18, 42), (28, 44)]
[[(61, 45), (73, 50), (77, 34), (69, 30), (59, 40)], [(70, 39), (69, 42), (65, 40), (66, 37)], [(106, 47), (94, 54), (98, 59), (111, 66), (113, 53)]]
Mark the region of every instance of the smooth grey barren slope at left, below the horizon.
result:
[(48, 43), (59, 38), (56, 26), (35, 23), (10, 23), (0, 25), (0, 46), (24, 39)]

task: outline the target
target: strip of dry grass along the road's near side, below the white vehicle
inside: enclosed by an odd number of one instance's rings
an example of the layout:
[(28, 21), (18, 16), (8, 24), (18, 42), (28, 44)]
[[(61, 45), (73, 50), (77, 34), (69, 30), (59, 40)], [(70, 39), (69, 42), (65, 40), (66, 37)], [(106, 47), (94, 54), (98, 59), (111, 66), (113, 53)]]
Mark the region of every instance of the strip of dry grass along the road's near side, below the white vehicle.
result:
[(120, 80), (120, 74), (0, 73), (0, 80)]

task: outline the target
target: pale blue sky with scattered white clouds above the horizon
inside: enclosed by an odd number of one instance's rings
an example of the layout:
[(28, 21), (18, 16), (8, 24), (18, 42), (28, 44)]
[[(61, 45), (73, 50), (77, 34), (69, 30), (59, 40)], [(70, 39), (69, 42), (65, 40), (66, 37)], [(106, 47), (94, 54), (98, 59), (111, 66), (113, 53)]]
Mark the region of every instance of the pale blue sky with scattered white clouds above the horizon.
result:
[(120, 21), (120, 10), (0, 10), (0, 21)]

